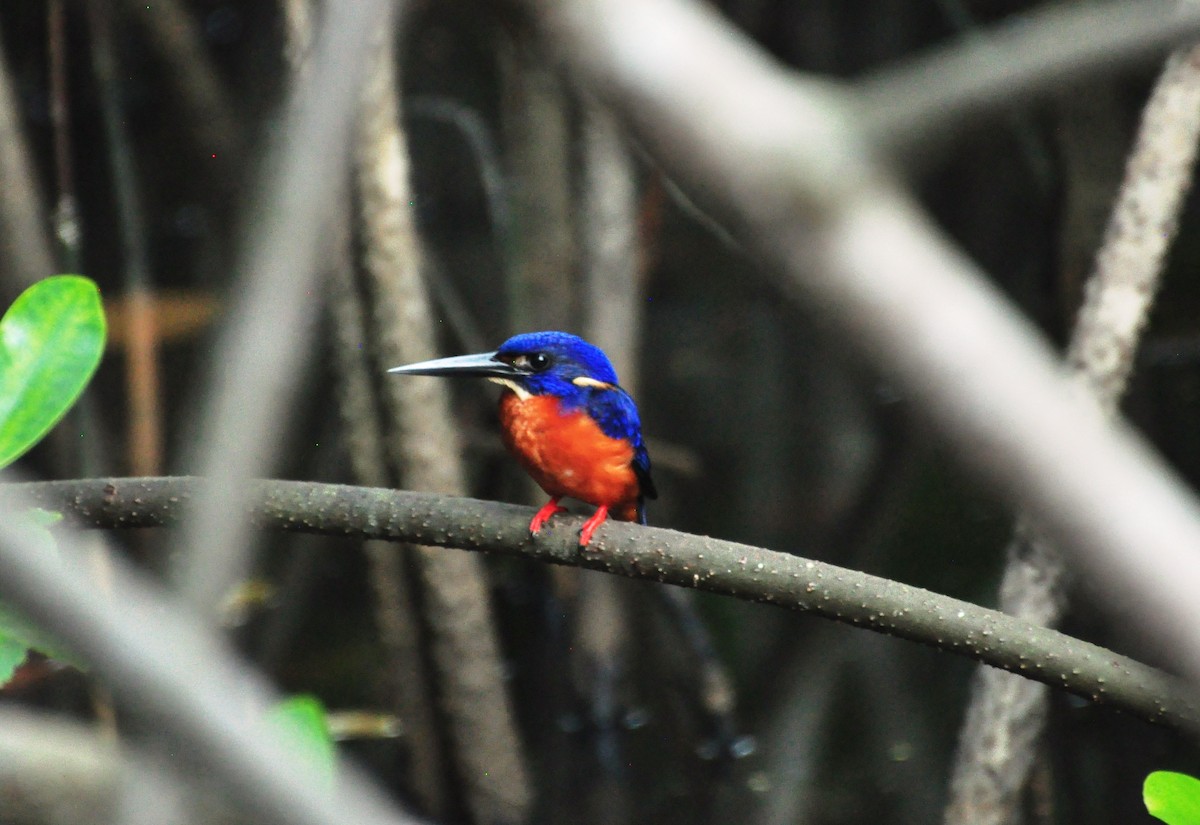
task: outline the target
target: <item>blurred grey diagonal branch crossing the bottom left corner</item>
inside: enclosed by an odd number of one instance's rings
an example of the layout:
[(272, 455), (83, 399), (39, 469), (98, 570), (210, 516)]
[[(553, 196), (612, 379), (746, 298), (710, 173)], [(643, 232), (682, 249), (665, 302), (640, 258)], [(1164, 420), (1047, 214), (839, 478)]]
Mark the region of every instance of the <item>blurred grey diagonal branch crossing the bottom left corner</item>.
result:
[[(403, 817), (352, 765), (338, 783), (280, 736), (265, 682), (178, 600), (113, 556), (108, 592), (86, 576), (77, 537), (59, 553), (20, 529), (30, 499), (6, 488), (0, 506), (0, 595), (86, 661), (122, 706), (154, 725), (174, 753), (220, 781), (268, 821), (293, 825), (396, 825)], [(203, 494), (203, 493), (202, 493)]]

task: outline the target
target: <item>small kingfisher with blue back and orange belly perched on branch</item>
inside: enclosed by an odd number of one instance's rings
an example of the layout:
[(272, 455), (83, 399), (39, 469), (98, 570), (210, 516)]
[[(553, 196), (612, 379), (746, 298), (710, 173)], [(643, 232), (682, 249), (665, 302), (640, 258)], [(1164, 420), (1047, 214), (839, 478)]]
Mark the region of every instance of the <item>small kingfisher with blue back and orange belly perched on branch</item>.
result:
[(612, 514), (646, 524), (646, 499), (658, 498), (650, 456), (634, 399), (599, 347), (569, 332), (527, 332), (492, 353), (421, 361), (397, 375), (486, 378), (500, 392), (500, 438), (550, 501), (529, 522), (534, 536), (563, 498), (595, 506), (580, 547)]

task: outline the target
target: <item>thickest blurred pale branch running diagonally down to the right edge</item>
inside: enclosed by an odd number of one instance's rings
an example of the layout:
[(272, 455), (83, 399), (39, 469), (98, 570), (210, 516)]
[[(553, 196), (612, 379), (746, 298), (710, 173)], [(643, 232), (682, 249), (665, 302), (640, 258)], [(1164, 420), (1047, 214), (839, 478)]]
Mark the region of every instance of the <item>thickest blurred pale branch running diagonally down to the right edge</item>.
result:
[[(785, 73), (700, 5), (526, 5), (664, 167), (740, 227), (787, 294), (893, 378), (966, 468), (1200, 680), (1200, 506), (872, 163), (856, 98)], [(1106, 35), (1110, 54), (1132, 46)]]

